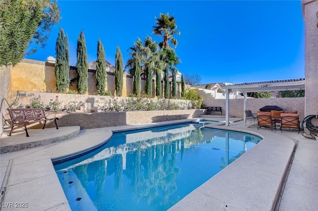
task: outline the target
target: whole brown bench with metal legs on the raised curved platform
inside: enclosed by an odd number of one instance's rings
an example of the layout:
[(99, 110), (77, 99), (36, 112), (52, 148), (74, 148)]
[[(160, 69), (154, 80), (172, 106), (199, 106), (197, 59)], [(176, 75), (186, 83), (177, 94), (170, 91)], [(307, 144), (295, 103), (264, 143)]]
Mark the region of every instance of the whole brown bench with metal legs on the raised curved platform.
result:
[(44, 114), (43, 108), (8, 108), (7, 110), (9, 111), (9, 115), (11, 118), (11, 131), (8, 136), (11, 136), (14, 129), (24, 127), (26, 137), (29, 137), (26, 126), (41, 121), (44, 122), (42, 129), (45, 128), (45, 124), (47, 121), (53, 122), (56, 125), (56, 129), (59, 129), (56, 123), (56, 120), (58, 120), (59, 118), (47, 118)]

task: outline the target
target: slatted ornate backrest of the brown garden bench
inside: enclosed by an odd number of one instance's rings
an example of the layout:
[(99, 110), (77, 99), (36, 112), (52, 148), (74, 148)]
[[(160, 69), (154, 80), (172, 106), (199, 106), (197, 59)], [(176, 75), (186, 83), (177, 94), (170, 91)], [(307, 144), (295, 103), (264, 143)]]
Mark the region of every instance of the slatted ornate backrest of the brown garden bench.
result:
[(8, 109), (13, 122), (40, 120), (45, 118), (43, 108), (13, 108)]

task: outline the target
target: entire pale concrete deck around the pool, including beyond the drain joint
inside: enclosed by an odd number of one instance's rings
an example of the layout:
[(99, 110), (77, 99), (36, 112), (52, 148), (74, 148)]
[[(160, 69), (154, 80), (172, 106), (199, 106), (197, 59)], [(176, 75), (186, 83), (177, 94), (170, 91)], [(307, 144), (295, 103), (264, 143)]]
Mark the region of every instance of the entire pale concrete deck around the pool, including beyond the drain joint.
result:
[[(2, 153), (0, 154), (0, 182), (1, 192), (4, 191), (4, 194), (1, 195), (0, 209), (1, 211), (14, 209), (69, 211), (71, 209), (55, 173), (52, 160), (78, 154), (103, 144), (112, 136), (112, 131), (189, 121), (192, 120), (81, 130), (79, 135), (66, 141)], [(170, 210), (268, 211), (275, 210), (277, 199), (278, 211), (317, 210), (318, 141), (304, 138), (295, 131), (281, 133), (279, 130), (271, 132), (268, 129), (248, 128), (249, 125), (245, 126), (245, 122), (242, 121), (234, 122), (229, 127), (217, 125), (220, 124), (206, 125), (206, 127), (247, 131), (259, 134), (264, 139)], [(77, 130), (71, 127), (65, 128), (66, 131)], [(60, 136), (54, 128), (34, 131), (34, 133), (45, 133), (46, 139)], [(33, 131), (30, 131), (31, 139), (33, 139), (32, 133)], [(29, 139), (25, 137), (25, 132), (16, 133), (12, 137), (6, 137), (4, 134), (0, 144), (17, 138)], [(297, 142), (298, 145), (296, 145)], [(294, 148), (296, 152), (293, 156)], [(292, 163), (291, 167), (290, 163)], [(287, 171), (289, 167), (290, 171)], [(289, 173), (284, 183), (286, 171)], [(282, 184), (285, 185), (282, 186)], [(23, 205), (26, 207), (23, 203), (28, 203), (27, 208), (15, 208), (15, 206)]]

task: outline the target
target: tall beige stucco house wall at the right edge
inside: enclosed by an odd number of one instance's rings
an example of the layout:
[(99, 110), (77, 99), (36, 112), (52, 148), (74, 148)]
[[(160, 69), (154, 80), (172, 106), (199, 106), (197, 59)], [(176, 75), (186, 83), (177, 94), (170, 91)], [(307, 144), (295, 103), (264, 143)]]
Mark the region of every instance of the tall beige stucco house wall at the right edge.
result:
[(305, 115), (318, 114), (318, 1), (303, 0), (305, 20)]

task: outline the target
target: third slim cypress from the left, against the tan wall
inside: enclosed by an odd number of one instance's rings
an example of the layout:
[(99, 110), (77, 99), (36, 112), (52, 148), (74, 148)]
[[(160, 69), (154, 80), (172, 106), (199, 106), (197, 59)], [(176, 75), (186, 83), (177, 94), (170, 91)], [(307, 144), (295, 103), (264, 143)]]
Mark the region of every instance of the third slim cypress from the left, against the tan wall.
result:
[(101, 41), (98, 38), (96, 61), (96, 90), (98, 94), (103, 94), (105, 92), (106, 78), (105, 50), (103, 44), (101, 44)]

